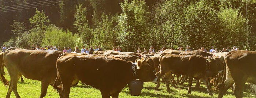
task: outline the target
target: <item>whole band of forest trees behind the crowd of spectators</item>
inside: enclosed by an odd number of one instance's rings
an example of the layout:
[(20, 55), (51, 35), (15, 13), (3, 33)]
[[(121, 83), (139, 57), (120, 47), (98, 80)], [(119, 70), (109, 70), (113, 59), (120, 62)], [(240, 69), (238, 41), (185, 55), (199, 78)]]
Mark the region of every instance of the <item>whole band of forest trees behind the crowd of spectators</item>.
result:
[(0, 0), (0, 45), (256, 50), (256, 0)]

